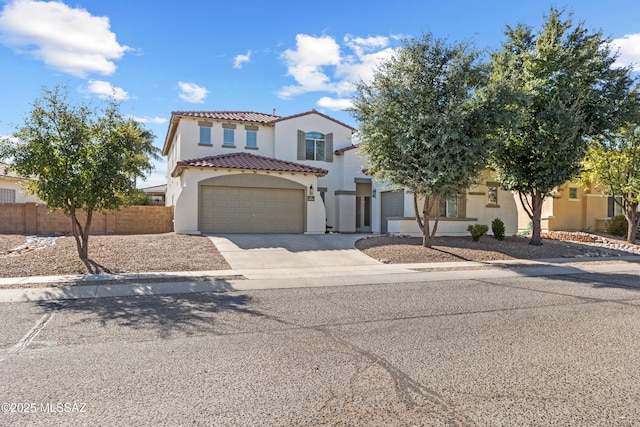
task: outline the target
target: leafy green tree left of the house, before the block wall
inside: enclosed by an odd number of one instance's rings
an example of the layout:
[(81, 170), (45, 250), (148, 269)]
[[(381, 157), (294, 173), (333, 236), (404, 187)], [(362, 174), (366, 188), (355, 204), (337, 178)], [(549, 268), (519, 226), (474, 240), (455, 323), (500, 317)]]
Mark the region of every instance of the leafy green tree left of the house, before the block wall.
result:
[(67, 93), (65, 87), (43, 89), (15, 139), (2, 141), (0, 159), (32, 178), (30, 191), (49, 209), (71, 219), (78, 255), (86, 261), (94, 212), (126, 205), (137, 194), (135, 177), (153, 170), (158, 150), (153, 133), (124, 117), (115, 102), (93, 111), (84, 103), (70, 105)]

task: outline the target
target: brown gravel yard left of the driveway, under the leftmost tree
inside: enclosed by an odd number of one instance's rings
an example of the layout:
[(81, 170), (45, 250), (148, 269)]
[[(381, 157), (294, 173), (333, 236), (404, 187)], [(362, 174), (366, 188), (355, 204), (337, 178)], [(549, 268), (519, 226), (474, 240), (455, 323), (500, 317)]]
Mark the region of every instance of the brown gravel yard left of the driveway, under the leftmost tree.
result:
[(208, 237), (175, 233), (91, 236), (89, 258), (88, 266), (78, 258), (73, 236), (0, 234), (0, 277), (230, 269)]

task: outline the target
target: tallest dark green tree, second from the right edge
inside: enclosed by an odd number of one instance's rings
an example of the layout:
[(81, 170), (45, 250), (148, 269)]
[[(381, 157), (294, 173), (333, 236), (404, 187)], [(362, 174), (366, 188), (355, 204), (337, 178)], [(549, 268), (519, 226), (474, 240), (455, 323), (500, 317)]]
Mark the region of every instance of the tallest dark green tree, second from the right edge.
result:
[(537, 33), (507, 27), (485, 92), (493, 113), (492, 166), (531, 218), (533, 245), (542, 244), (543, 202), (580, 172), (587, 140), (611, 128), (632, 84), (628, 68), (612, 67), (610, 40), (562, 15), (551, 8)]

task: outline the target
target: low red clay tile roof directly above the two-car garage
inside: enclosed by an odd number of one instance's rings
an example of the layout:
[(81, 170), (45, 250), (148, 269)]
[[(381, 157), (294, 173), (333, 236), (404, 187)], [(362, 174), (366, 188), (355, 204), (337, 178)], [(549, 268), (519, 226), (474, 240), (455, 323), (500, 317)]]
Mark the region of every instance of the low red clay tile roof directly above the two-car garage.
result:
[(206, 167), (223, 169), (248, 169), (276, 172), (300, 172), (326, 175), (329, 171), (301, 163), (287, 162), (271, 157), (257, 156), (251, 153), (231, 153), (200, 159), (183, 160), (176, 164), (171, 176), (177, 176), (187, 167)]

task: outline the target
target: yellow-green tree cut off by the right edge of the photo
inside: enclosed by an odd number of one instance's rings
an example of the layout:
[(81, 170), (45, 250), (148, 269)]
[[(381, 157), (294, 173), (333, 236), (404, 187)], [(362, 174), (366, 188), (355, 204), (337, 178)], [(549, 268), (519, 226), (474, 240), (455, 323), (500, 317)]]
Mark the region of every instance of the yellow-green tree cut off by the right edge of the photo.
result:
[(582, 180), (614, 196), (627, 220), (627, 241), (636, 242), (640, 225), (640, 127), (592, 139)]

